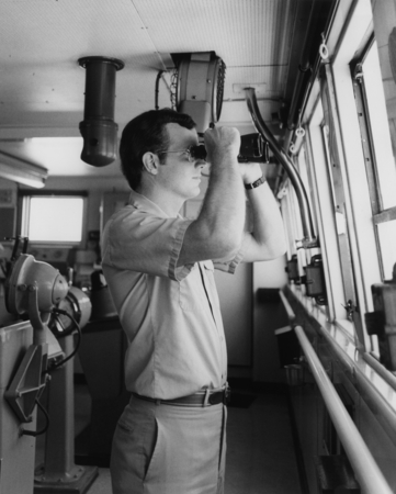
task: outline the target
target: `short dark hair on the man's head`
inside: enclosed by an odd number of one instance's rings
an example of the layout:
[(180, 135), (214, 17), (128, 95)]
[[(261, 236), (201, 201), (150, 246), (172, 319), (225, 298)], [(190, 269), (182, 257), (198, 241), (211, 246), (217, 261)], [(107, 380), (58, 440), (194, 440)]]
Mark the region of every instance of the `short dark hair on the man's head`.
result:
[[(122, 172), (132, 189), (136, 190), (140, 184), (144, 154), (168, 149), (168, 123), (177, 123), (189, 130), (195, 127), (190, 115), (167, 108), (142, 113), (125, 125), (121, 136), (120, 159)], [(166, 156), (160, 155), (159, 159), (165, 162)]]

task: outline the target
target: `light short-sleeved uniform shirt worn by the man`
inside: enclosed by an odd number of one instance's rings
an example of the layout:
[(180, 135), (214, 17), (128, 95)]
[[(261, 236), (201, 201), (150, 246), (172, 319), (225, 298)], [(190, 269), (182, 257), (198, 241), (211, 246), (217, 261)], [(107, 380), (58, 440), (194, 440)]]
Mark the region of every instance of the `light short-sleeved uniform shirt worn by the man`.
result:
[[(212, 260), (177, 267), (191, 220), (132, 191), (103, 232), (102, 268), (128, 339), (127, 390), (169, 400), (225, 384), (227, 352)], [(217, 266), (233, 273), (242, 249)]]

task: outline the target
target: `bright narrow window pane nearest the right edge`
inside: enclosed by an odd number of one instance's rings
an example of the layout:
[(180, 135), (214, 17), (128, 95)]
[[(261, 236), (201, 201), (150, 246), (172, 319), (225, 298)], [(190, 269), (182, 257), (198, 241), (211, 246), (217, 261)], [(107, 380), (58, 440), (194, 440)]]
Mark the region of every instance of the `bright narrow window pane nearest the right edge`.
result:
[(383, 209), (386, 210), (396, 205), (396, 143), (393, 146), (391, 141), (388, 124), (393, 121), (388, 122), (387, 119), (376, 43), (373, 44), (363, 63), (363, 72), (380, 191)]

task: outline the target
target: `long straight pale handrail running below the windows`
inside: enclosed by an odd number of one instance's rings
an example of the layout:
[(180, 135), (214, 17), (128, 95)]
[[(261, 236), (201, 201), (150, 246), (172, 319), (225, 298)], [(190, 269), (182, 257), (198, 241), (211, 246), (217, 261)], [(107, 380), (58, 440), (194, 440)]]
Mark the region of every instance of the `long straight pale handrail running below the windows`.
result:
[[(293, 310), (282, 291), (280, 291), (280, 296), (292, 323), (295, 318)], [(354, 422), (343, 406), (304, 329), (302, 326), (294, 326), (294, 330), (363, 492), (392, 494), (392, 489), (372, 457)]]

